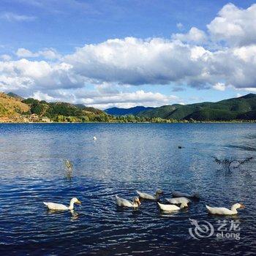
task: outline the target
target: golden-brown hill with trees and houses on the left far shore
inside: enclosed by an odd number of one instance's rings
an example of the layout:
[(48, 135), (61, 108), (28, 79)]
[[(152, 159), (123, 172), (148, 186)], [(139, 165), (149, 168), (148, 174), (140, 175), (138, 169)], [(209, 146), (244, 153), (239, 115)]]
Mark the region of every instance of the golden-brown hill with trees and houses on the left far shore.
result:
[(97, 108), (72, 105), (67, 102), (46, 102), (23, 99), (16, 94), (0, 93), (0, 121), (108, 121), (109, 116)]

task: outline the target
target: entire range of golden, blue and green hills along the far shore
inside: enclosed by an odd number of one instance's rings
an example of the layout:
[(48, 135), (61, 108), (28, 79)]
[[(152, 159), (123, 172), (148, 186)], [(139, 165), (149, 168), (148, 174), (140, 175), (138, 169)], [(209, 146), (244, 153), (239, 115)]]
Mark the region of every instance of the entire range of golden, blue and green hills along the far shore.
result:
[(108, 108), (99, 110), (82, 104), (46, 102), (0, 92), (0, 122), (175, 122), (256, 120), (256, 94), (189, 105), (159, 108)]

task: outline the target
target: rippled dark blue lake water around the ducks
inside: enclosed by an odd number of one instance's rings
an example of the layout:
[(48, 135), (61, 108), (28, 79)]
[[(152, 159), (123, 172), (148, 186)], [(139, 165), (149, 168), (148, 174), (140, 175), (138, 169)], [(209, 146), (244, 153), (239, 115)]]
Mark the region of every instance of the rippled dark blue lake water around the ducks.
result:
[[(255, 255), (255, 152), (255, 124), (0, 124), (0, 253)], [(254, 159), (227, 172), (212, 156)], [(74, 165), (71, 179), (64, 159)], [(115, 195), (132, 199), (137, 189), (157, 188), (165, 192), (162, 202), (172, 190), (201, 198), (173, 214), (155, 202), (116, 207)], [(42, 204), (69, 204), (72, 197), (82, 201), (73, 214)], [(206, 203), (246, 208), (213, 217)], [(214, 235), (192, 238), (189, 219), (210, 222)], [(238, 223), (230, 233), (239, 240), (217, 238), (223, 221), (228, 228)]]

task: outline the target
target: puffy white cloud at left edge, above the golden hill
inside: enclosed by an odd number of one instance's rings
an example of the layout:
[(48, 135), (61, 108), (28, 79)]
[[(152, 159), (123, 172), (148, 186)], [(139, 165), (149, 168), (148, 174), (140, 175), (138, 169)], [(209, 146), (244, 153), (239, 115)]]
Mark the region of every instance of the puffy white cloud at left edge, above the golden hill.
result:
[(67, 63), (46, 61), (0, 61), (0, 90), (26, 88), (28, 91), (70, 89), (83, 87), (85, 78), (72, 73)]

